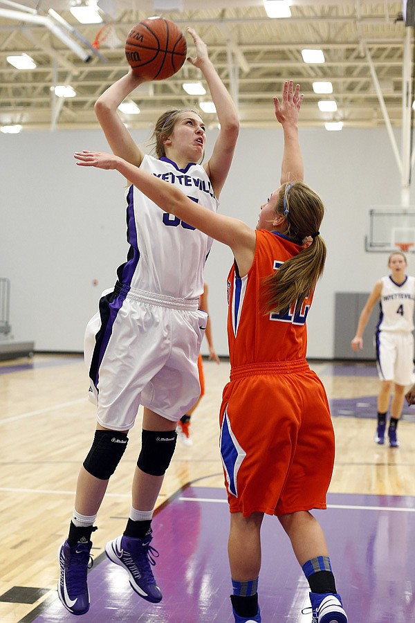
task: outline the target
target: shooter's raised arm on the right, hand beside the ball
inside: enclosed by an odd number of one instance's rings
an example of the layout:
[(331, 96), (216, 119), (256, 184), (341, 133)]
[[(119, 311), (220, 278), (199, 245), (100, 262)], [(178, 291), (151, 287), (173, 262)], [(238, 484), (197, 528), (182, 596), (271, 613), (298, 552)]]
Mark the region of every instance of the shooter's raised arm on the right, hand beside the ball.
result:
[(210, 160), (205, 165), (206, 172), (212, 183), (216, 197), (219, 197), (223, 184), (230, 170), (235, 145), (239, 134), (239, 117), (237, 108), (214, 69), (208, 57), (208, 48), (194, 28), (187, 28), (196, 45), (196, 57), (188, 57), (188, 61), (203, 73), (219, 119), (219, 136), (216, 138)]

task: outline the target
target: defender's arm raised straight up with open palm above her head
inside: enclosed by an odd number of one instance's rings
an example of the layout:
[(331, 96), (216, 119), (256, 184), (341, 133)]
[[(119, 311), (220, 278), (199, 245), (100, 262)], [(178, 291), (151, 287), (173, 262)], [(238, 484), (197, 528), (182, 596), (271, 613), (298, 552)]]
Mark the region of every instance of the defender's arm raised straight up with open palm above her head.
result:
[(284, 132), (280, 180), (282, 184), (304, 179), (304, 165), (298, 137), (298, 116), (303, 98), (303, 93), (299, 93), (299, 84), (296, 84), (294, 89), (293, 80), (284, 82), (282, 102), (274, 98), (275, 116)]

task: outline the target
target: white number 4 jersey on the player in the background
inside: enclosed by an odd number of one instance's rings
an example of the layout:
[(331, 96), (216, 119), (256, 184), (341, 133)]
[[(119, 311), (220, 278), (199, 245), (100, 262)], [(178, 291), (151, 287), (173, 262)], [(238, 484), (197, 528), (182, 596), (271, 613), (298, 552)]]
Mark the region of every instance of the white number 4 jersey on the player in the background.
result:
[(414, 330), (415, 277), (407, 276), (398, 285), (391, 276), (382, 277), (378, 330)]

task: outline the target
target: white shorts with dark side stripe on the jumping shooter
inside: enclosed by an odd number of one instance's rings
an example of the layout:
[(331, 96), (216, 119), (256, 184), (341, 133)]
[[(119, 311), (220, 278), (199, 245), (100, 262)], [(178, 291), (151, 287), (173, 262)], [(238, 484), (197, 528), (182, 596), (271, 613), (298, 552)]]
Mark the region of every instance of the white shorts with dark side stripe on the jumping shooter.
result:
[(177, 422), (200, 395), (197, 359), (208, 314), (197, 299), (132, 288), (102, 294), (84, 341), (98, 422), (126, 431), (140, 404)]

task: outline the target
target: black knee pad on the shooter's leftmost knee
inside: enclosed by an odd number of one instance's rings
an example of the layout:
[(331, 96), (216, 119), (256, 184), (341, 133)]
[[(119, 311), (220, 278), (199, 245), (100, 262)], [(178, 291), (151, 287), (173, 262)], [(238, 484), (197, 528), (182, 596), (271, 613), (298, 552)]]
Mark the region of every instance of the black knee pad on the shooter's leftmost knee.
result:
[(95, 431), (91, 450), (84, 460), (84, 468), (95, 478), (108, 480), (116, 471), (127, 443), (127, 433)]

